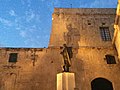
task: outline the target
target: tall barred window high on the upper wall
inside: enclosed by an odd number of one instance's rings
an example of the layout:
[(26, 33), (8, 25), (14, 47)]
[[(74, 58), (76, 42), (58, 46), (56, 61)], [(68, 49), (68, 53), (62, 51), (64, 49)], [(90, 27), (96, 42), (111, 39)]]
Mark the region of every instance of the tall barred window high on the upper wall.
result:
[(111, 36), (108, 27), (100, 27), (100, 33), (103, 41), (111, 41)]

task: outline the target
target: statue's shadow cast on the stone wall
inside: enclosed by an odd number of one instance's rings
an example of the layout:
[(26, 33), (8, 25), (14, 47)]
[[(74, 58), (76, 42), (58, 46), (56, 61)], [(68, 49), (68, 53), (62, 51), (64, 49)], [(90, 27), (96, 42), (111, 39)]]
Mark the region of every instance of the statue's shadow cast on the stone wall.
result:
[(80, 40), (80, 33), (77, 28), (73, 28), (72, 24), (66, 25), (66, 29), (68, 32), (64, 32), (64, 40), (68, 47), (73, 49), (73, 57), (76, 56), (79, 49), (79, 40)]

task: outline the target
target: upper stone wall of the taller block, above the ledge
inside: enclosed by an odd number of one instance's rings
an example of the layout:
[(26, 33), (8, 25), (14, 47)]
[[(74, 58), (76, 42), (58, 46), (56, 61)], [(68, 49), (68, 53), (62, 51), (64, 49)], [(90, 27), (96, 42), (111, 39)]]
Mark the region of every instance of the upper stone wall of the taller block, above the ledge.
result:
[(111, 42), (102, 41), (99, 27), (109, 27), (112, 38), (114, 19), (115, 9), (57, 8), (53, 13), (49, 47), (64, 43), (73, 47), (111, 46)]

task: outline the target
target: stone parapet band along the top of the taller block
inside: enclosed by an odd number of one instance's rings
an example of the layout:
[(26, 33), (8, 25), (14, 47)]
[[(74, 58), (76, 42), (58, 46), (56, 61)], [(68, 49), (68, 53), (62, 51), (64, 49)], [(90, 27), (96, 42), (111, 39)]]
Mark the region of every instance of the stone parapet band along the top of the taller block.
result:
[(115, 14), (115, 8), (55, 8), (53, 14)]

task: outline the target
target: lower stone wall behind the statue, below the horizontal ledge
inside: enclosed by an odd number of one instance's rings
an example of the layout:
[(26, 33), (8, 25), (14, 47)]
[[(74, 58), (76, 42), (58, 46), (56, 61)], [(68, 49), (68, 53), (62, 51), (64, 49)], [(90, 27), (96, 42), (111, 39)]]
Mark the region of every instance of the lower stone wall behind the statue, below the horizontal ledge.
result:
[[(6, 50), (6, 49), (5, 49)], [(30, 49), (32, 50), (32, 49)], [(4, 50), (3, 50), (4, 51)], [(18, 62), (11, 67), (7, 51), (1, 61), (0, 77), (2, 90), (56, 90), (56, 75), (62, 72), (63, 59), (61, 49), (48, 48), (37, 52), (35, 65), (31, 60), (30, 51), (19, 50)], [(14, 49), (16, 52), (16, 49)], [(114, 55), (117, 64), (107, 64), (106, 54)], [(1, 59), (2, 60), (2, 59)], [(91, 82), (95, 78), (106, 78), (119, 90), (120, 65), (113, 47), (81, 47), (73, 49), (72, 67), (75, 73), (76, 88), (91, 90)]]

